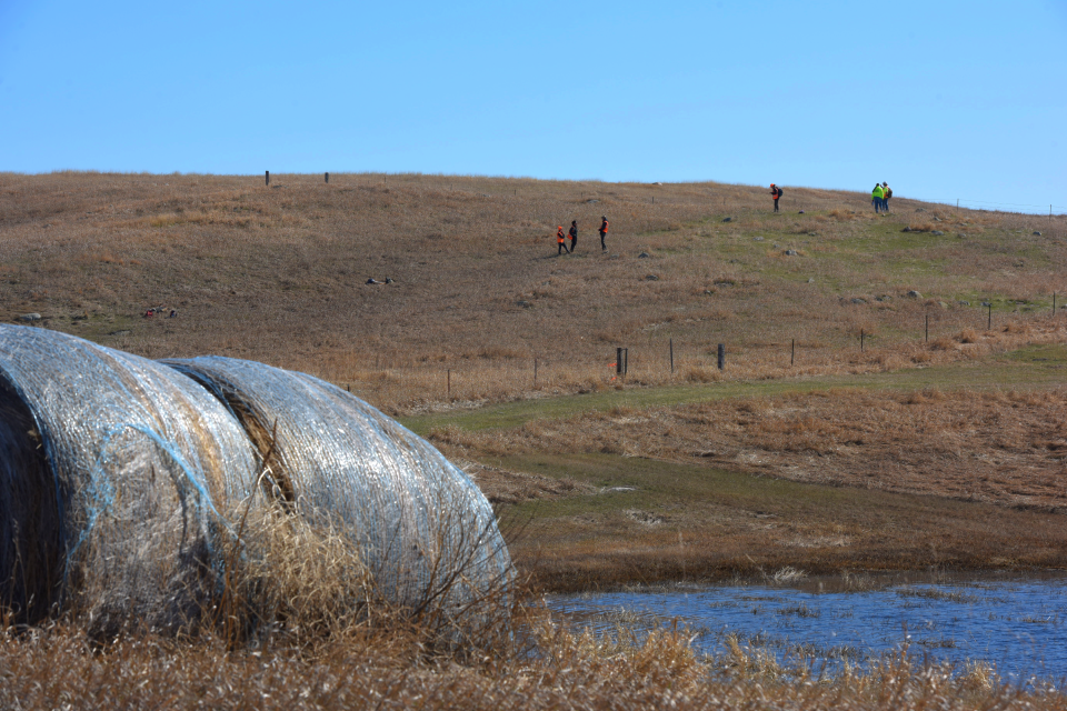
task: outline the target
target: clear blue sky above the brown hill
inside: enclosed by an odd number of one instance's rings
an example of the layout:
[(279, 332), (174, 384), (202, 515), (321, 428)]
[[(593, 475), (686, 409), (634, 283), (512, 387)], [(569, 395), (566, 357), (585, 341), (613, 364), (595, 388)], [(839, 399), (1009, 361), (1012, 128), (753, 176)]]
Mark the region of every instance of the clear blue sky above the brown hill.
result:
[(0, 0), (7, 171), (887, 180), (1047, 211), (1065, 123), (1067, 0)]

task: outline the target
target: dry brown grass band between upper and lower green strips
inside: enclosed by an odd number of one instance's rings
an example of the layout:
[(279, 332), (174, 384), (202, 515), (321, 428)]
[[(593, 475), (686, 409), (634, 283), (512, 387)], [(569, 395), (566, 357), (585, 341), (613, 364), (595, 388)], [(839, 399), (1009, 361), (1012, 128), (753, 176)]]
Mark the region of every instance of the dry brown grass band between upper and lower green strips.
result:
[(1067, 512), (1063, 388), (831, 389), (622, 415), (591, 412), (430, 439), (473, 457), (626, 452), (794, 481)]

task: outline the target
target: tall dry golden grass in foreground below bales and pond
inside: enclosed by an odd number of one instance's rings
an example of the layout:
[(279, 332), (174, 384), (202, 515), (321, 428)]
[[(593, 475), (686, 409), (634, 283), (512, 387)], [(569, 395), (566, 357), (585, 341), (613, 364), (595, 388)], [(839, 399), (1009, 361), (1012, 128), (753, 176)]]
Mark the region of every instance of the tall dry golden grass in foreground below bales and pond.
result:
[(928, 664), (906, 651), (868, 670), (821, 677), (740, 644), (698, 658), (681, 631), (639, 639), (575, 633), (544, 613), (523, 620), (534, 651), (495, 650), (457, 664), (395, 632), (313, 651), (230, 650), (153, 637), (86, 643), (73, 628), (0, 631), (0, 707), (10, 709), (1065, 709), (1050, 687), (1003, 684), (988, 668)]

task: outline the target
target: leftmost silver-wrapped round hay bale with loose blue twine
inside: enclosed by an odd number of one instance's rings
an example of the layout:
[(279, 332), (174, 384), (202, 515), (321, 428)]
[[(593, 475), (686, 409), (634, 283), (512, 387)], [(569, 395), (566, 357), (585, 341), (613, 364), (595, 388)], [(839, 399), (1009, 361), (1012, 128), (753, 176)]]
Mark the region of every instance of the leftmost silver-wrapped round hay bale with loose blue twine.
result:
[(192, 619), (256, 484), (229, 410), (154, 361), (0, 326), (0, 600), (29, 619), (77, 607), (98, 630)]

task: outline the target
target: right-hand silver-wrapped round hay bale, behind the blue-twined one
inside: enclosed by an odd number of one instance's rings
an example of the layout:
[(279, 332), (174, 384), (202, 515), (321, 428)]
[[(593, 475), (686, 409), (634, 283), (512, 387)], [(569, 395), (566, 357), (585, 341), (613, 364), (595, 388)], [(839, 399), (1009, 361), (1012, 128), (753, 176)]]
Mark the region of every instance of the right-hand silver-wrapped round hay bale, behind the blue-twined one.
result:
[(511, 560), (489, 502), (426, 440), (311, 375), (219, 357), (163, 362), (232, 409), (279, 499), (358, 542), (386, 599), (452, 615), (507, 594)]

